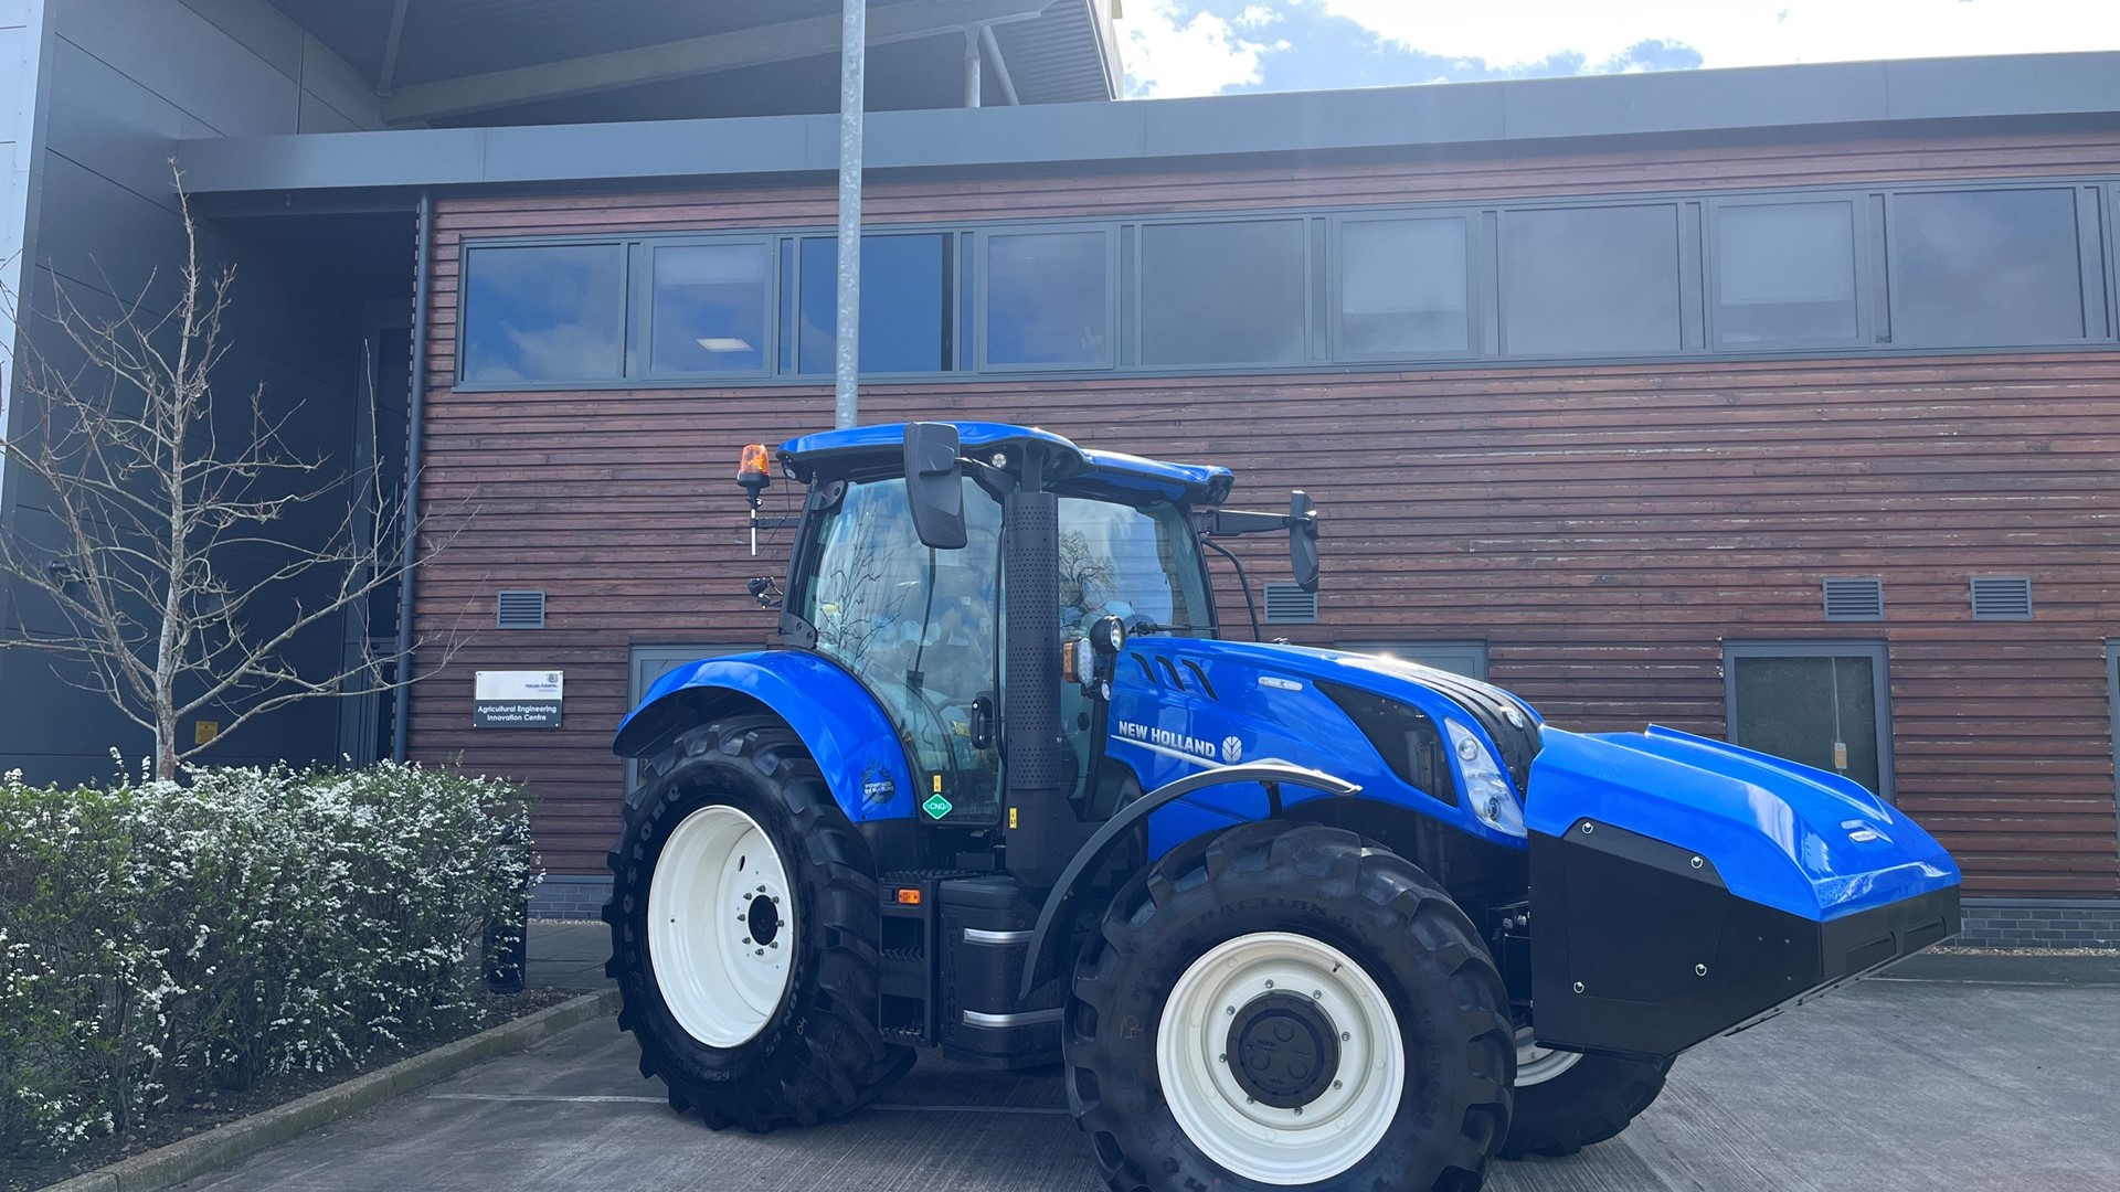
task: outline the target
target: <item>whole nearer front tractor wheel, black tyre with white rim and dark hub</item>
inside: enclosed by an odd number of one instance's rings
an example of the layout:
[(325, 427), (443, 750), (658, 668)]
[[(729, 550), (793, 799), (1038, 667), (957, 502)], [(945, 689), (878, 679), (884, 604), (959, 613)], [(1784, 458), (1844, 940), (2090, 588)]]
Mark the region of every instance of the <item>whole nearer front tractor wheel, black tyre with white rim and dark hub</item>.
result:
[(1121, 1192), (1469, 1192), (1509, 1126), (1509, 997), (1478, 931), (1336, 827), (1242, 825), (1128, 882), (1062, 1048)]

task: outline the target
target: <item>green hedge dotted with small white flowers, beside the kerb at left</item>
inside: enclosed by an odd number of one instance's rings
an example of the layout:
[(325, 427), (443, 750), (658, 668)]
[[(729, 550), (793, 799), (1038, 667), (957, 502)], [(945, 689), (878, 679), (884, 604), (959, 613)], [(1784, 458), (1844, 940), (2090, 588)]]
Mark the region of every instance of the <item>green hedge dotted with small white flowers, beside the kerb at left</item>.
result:
[(420, 766), (0, 776), (0, 1158), (466, 1024), (530, 806)]

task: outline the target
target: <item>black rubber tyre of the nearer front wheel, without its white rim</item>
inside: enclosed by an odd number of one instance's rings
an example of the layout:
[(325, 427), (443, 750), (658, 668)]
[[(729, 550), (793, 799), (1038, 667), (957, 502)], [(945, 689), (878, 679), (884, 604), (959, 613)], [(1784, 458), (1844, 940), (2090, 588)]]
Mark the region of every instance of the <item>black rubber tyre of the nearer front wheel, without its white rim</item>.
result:
[(1158, 1067), (1172, 984), (1213, 948), (1257, 933), (1317, 940), (1353, 959), (1384, 995), (1406, 1046), (1399, 1105), (1380, 1139), (1344, 1171), (1304, 1186), (1480, 1188), (1509, 1128), (1516, 1077), (1509, 995), (1492, 957), (1414, 863), (1353, 831), (1287, 821), (1174, 848), (1119, 891), (1085, 942), (1062, 1052), (1068, 1103), (1105, 1181), (1117, 1192), (1283, 1186), (1208, 1158), (1172, 1114)]

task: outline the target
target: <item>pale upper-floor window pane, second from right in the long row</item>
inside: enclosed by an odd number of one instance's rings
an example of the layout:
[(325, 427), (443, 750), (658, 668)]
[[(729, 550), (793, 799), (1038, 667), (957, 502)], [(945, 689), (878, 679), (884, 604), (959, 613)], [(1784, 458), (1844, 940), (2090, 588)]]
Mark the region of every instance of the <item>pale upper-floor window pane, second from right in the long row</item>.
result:
[(1743, 204), (1715, 212), (1715, 346), (1853, 344), (1855, 204)]

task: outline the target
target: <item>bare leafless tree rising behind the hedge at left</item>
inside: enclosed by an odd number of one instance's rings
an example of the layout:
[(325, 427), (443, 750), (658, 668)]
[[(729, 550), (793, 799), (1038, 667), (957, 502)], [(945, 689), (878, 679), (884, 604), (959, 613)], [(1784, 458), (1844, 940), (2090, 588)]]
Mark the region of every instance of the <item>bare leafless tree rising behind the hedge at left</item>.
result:
[[(57, 367), (23, 335), (17, 401), (36, 409), (0, 437), (51, 513), (32, 530), (21, 515), (0, 526), (0, 573), (68, 626), (0, 645), (85, 662), (70, 681), (155, 734), (163, 778), (210, 744), (178, 736), (201, 711), (225, 715), (227, 736), (299, 700), (411, 681), (409, 655), (394, 674), (367, 649), (305, 668), (295, 647), (420, 562), (401, 558), (405, 505), (379, 467), (299, 458), (282, 431), (301, 411), (269, 411), (263, 386), (235, 403), (216, 392), (235, 271), (201, 267), (182, 178), (178, 204), (184, 265), (167, 314), (146, 305), (153, 280), (114, 316), (89, 314), (55, 284), (49, 327), (78, 361)], [(443, 645), (447, 662), (454, 636)]]

